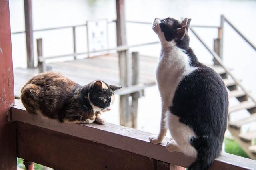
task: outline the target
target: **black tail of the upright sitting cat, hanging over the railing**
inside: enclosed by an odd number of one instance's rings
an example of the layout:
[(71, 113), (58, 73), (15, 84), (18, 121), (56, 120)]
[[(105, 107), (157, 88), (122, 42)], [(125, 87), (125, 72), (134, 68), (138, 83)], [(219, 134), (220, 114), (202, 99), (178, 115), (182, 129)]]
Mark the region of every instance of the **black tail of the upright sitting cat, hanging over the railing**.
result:
[[(197, 145), (199, 144), (199, 141), (196, 141), (199, 139), (194, 139), (192, 142), (192, 145)], [(208, 168), (212, 165), (214, 162), (214, 159), (220, 154), (221, 148), (216, 146), (216, 143), (204, 141), (202, 142), (202, 139), (200, 139), (200, 145), (204, 145), (204, 147), (197, 148), (198, 153), (197, 153), (197, 158), (196, 161), (193, 162), (189, 167), (188, 170), (208, 170)], [(215, 145), (215, 146), (214, 146)], [(197, 145), (198, 146), (198, 145)]]

